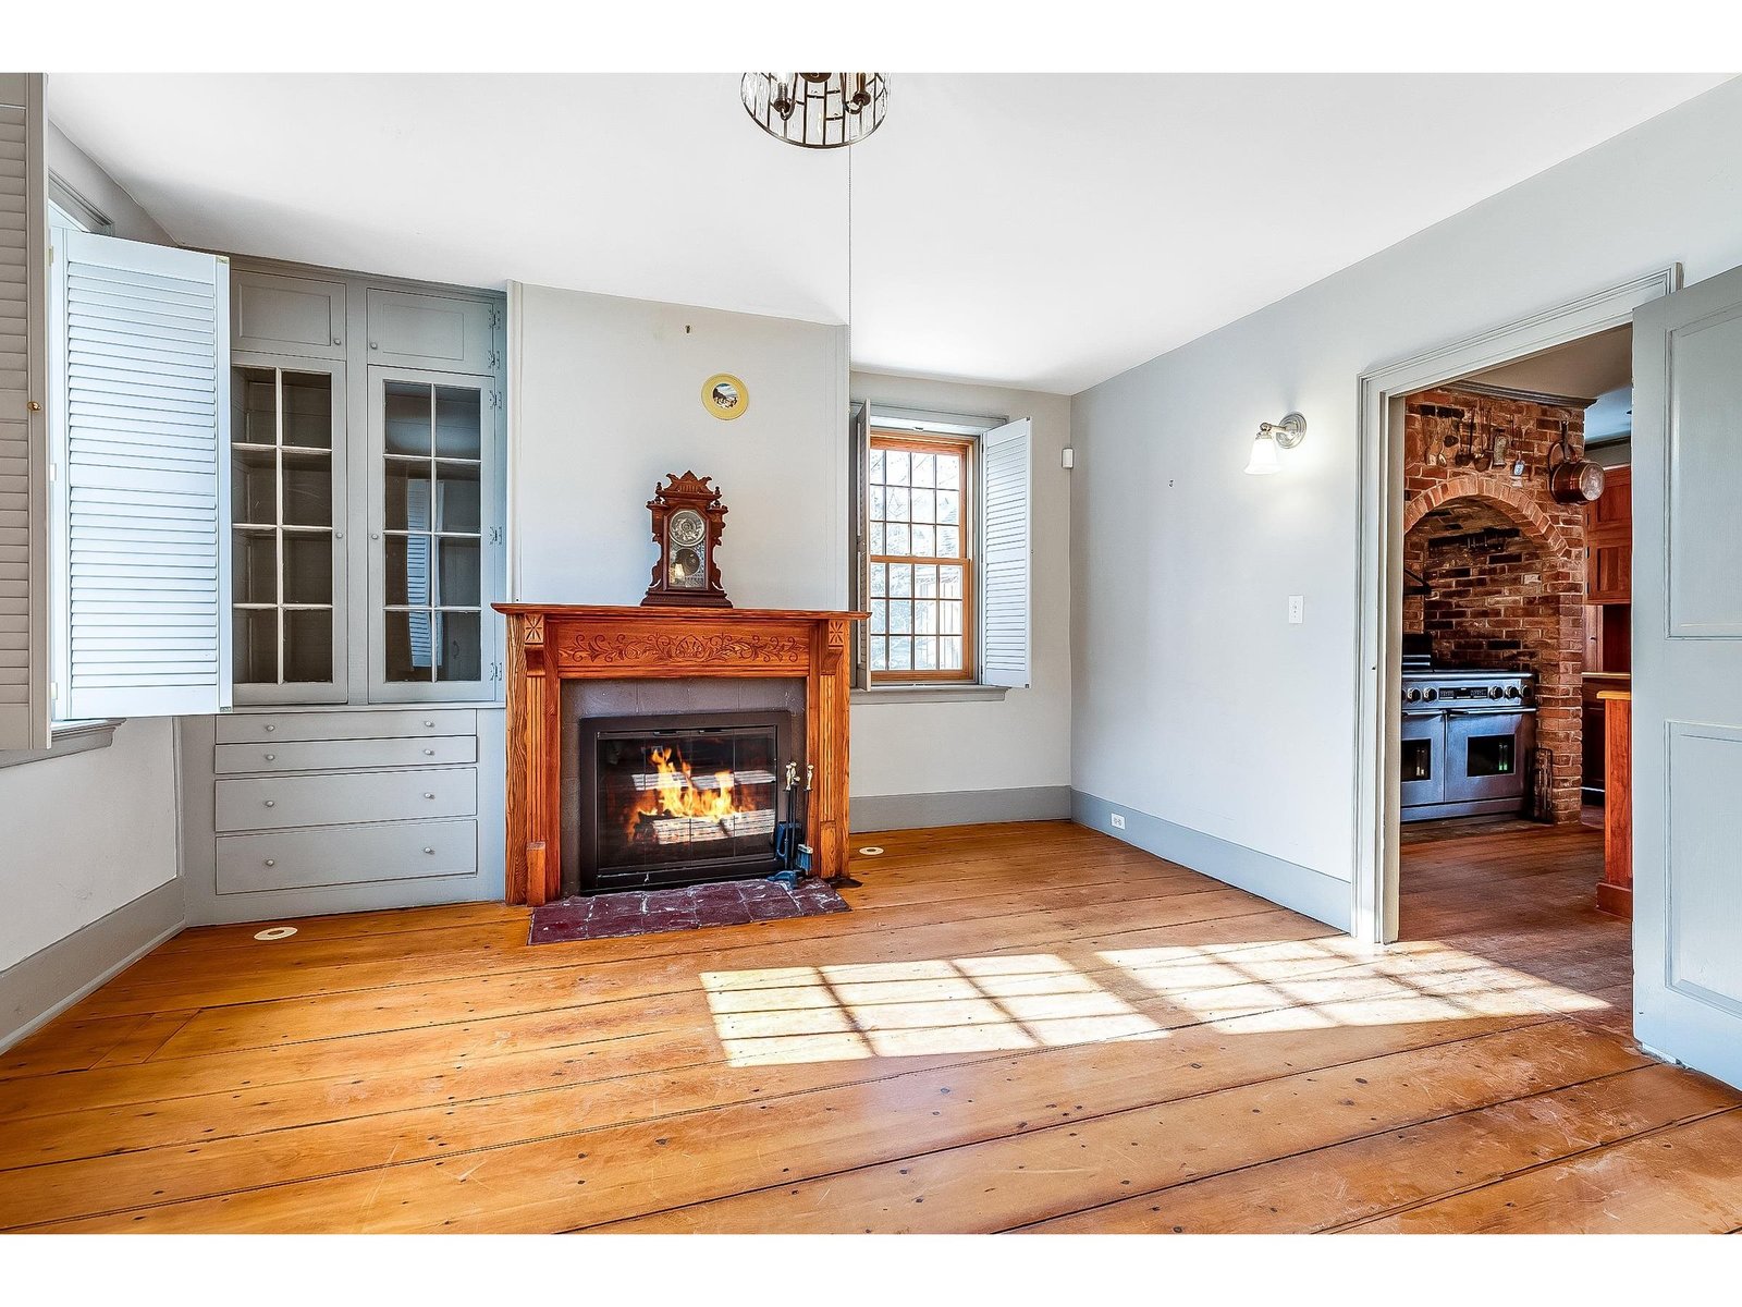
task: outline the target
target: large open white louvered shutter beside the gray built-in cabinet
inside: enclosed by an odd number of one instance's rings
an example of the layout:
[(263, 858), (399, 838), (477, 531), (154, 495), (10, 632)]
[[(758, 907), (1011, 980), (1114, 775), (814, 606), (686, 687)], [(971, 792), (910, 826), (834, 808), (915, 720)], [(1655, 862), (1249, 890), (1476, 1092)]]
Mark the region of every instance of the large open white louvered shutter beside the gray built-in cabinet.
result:
[(230, 706), (230, 279), (68, 232), (54, 260), (61, 720)]

